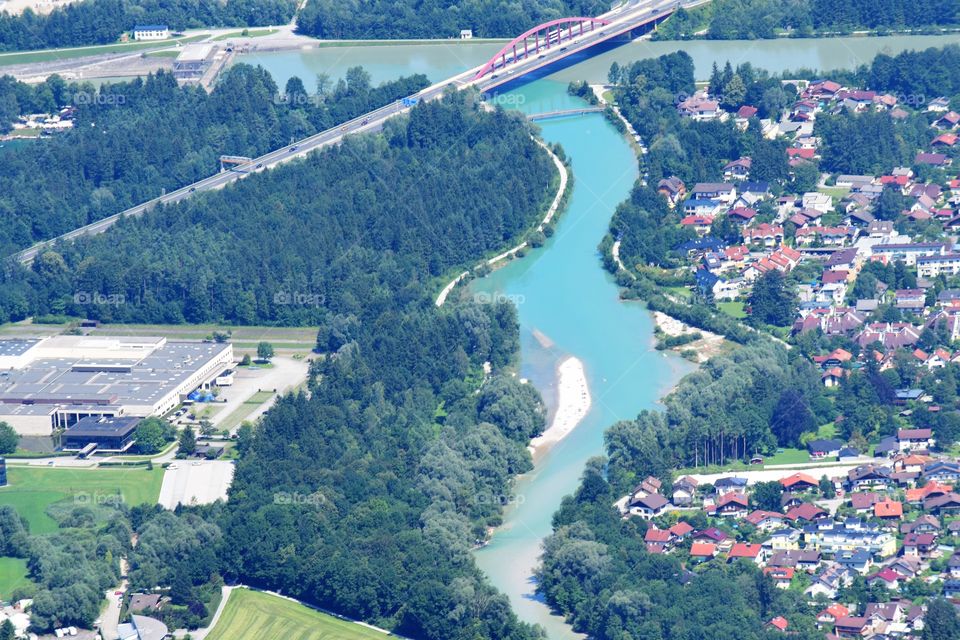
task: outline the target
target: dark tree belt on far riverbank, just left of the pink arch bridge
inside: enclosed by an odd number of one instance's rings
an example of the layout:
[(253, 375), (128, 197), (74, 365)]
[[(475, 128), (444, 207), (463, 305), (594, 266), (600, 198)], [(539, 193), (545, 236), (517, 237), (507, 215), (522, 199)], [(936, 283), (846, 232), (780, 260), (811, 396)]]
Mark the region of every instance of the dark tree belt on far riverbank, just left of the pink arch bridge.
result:
[(328, 39), (513, 38), (556, 18), (594, 16), (609, 10), (602, 0), (311, 0), (297, 16), (297, 30)]

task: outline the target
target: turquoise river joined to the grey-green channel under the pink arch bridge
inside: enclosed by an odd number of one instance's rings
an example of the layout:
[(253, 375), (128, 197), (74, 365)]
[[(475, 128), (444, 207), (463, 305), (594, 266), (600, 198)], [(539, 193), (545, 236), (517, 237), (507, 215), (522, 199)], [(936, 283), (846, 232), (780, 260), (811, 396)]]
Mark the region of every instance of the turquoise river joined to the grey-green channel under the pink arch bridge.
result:
[[(878, 52), (952, 42), (960, 42), (960, 35), (634, 42), (514, 89), (500, 102), (527, 113), (570, 108), (582, 104), (566, 94), (570, 80), (603, 82), (613, 61), (623, 64), (681, 48), (693, 57), (697, 77), (705, 79), (714, 61), (721, 65), (727, 60), (750, 61), (775, 72), (851, 68), (868, 63)], [(409, 73), (425, 73), (439, 81), (482, 63), (497, 49), (498, 45), (461, 43), (331, 47), (251, 54), (239, 60), (263, 65), (281, 87), (290, 76), (298, 75), (312, 88), (318, 73), (336, 79), (355, 65), (363, 65), (375, 83)], [(569, 355), (585, 366), (593, 404), (579, 427), (518, 480), (503, 526), (477, 552), (476, 560), (492, 584), (510, 597), (522, 619), (543, 625), (552, 640), (559, 640), (576, 634), (534, 597), (531, 580), (552, 515), (562, 497), (576, 489), (586, 461), (602, 453), (604, 430), (655, 406), (690, 365), (653, 350), (650, 315), (638, 304), (619, 301), (615, 283), (600, 265), (597, 245), (638, 174), (629, 145), (597, 114), (545, 121), (541, 126), (543, 137), (559, 142), (571, 158), (574, 184), (569, 207), (543, 248), (473, 286), (475, 291), (505, 294), (516, 302), (520, 374), (541, 390), (549, 406), (556, 403), (556, 366)], [(543, 336), (549, 346), (544, 346)]]

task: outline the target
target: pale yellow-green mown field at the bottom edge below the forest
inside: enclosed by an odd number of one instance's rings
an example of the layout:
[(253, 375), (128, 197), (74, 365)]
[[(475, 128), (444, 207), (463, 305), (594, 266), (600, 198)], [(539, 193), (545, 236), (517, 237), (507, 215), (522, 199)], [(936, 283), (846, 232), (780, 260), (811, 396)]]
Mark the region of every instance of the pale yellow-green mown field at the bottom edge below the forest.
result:
[(384, 634), (284, 598), (234, 589), (207, 640), (383, 640)]

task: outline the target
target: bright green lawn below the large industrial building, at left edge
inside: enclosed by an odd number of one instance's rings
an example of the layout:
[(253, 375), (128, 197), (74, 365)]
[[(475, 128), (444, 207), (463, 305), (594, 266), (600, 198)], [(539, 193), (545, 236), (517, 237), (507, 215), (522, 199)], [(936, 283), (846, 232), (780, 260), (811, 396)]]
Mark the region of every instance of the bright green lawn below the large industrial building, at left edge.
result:
[(49, 467), (7, 466), (9, 486), (0, 488), (0, 504), (9, 504), (30, 523), (30, 532), (50, 533), (57, 530), (56, 521), (46, 513), (47, 507), (70, 496), (89, 500), (97, 496), (114, 496), (117, 491), (124, 502), (154, 504), (160, 497), (163, 469), (56, 469)]

